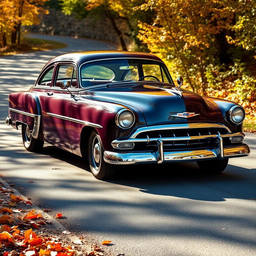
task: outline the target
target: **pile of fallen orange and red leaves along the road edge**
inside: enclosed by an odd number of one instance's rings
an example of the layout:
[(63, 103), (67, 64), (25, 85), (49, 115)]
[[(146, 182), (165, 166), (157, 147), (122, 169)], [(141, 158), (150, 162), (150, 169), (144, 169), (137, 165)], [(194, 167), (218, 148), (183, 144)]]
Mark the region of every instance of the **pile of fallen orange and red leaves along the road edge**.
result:
[[(0, 188), (1, 192), (11, 192), (6, 188)], [(17, 206), (18, 202), (24, 204), (28, 201), (20, 196), (10, 194), (10, 202), (2, 201), (2, 204)], [(30, 201), (29, 201), (30, 202)], [(31, 203), (32, 204), (32, 203)], [(32, 231), (32, 228), (40, 229), (40, 226), (46, 225), (42, 214), (36, 214), (35, 210), (30, 210), (22, 215), (25, 210), (10, 209), (0, 206), (0, 252), (3, 256), (75, 256), (76, 251), (70, 246), (64, 247), (61, 243), (56, 242), (54, 237), (38, 236)], [(13, 213), (21, 213), (20, 216), (14, 217)], [(15, 226), (12, 223), (15, 221)], [(24, 229), (25, 228), (25, 229)]]

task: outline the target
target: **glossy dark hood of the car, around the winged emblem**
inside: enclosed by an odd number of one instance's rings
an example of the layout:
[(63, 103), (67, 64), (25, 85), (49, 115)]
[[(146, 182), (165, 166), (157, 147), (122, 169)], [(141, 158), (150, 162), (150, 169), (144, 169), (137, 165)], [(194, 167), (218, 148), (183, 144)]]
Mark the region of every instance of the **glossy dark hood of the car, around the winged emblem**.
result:
[[(86, 96), (136, 108), (144, 114), (147, 125), (218, 122), (216, 107), (202, 96), (181, 88), (164, 87), (148, 84), (100, 87), (87, 91)], [(190, 118), (172, 116), (183, 112), (199, 115)]]

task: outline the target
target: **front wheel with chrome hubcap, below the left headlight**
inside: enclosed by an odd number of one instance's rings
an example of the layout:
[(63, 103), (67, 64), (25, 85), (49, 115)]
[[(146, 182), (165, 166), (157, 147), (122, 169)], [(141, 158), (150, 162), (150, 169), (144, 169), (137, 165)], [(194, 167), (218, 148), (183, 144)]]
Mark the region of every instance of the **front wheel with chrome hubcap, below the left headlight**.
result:
[(100, 136), (93, 131), (88, 143), (88, 157), (93, 176), (99, 180), (109, 179), (114, 176), (116, 166), (108, 164), (103, 159), (103, 147)]

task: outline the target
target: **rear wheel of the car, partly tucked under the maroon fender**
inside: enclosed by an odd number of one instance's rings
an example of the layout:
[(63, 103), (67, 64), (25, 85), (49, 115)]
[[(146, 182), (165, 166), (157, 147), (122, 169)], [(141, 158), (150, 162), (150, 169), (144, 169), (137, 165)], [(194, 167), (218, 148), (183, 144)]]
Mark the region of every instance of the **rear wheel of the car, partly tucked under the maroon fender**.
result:
[(26, 150), (30, 152), (37, 152), (43, 148), (44, 141), (33, 138), (27, 124), (22, 124), (21, 133), (23, 145)]

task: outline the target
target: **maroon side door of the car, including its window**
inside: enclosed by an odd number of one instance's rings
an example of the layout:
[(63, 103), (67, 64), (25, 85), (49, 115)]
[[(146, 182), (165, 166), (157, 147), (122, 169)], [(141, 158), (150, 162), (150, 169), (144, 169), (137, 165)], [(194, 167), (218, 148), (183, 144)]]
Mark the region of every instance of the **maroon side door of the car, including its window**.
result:
[(69, 90), (77, 94), (76, 67), (73, 64), (59, 63), (56, 66), (52, 90), (44, 98), (44, 133), (52, 144), (71, 151), (68, 119), (73, 97), (67, 89), (60, 88), (60, 83), (64, 80), (68, 81)]

